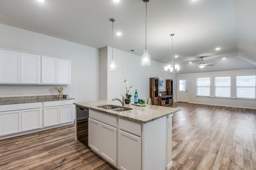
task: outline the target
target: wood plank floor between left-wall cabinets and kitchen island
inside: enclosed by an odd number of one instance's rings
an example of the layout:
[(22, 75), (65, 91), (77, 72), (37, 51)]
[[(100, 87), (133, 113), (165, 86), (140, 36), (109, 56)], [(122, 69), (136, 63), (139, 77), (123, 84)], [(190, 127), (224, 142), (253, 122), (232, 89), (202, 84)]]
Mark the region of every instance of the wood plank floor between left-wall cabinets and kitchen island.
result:
[(116, 170), (74, 139), (68, 125), (0, 140), (0, 170)]

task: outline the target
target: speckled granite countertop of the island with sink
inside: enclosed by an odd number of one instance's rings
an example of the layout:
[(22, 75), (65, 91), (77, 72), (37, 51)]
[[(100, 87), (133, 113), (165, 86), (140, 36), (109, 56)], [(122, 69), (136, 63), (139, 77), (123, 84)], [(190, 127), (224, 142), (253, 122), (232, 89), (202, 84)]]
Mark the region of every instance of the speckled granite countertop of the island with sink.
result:
[(122, 107), (122, 104), (119, 101), (112, 100), (100, 100), (96, 102), (79, 102), (74, 104), (82, 107), (87, 107), (94, 111), (100, 111), (102, 113), (122, 117), (139, 123), (148, 123), (150, 121), (154, 121), (166, 115), (170, 115), (177, 111), (180, 111), (180, 109), (174, 107), (163, 107), (154, 105), (135, 106), (132, 104), (125, 104), (124, 107), (132, 108), (132, 110), (127, 111), (112, 111), (97, 107), (103, 105), (116, 105)]

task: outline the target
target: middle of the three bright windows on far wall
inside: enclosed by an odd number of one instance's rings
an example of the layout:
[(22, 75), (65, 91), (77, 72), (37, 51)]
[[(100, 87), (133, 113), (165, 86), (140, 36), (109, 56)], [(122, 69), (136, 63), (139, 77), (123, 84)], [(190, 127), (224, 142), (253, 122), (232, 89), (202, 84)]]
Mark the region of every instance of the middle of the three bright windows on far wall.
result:
[(230, 98), (231, 77), (215, 77), (215, 96)]

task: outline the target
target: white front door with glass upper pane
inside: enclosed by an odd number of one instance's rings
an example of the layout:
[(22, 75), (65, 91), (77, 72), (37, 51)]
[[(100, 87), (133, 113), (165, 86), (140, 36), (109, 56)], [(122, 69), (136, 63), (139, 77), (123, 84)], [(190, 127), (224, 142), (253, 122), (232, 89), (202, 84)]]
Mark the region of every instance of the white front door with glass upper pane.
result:
[(188, 102), (188, 78), (178, 78), (178, 102)]

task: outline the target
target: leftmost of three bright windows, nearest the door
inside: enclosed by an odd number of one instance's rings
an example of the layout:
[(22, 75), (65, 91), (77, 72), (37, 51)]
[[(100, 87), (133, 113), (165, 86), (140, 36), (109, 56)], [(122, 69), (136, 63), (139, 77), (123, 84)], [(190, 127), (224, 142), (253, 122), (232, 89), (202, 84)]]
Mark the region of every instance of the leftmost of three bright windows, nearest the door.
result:
[(196, 96), (210, 96), (210, 77), (196, 78)]

